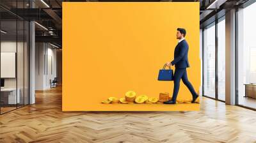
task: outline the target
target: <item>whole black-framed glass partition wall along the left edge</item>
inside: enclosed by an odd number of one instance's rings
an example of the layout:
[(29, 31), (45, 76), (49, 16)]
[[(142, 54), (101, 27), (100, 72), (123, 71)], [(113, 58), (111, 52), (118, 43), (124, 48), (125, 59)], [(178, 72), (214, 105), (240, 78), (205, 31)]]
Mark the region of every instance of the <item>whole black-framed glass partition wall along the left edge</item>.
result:
[[(28, 1), (0, 1), (28, 8)], [(0, 8), (0, 114), (29, 104), (29, 22)]]

